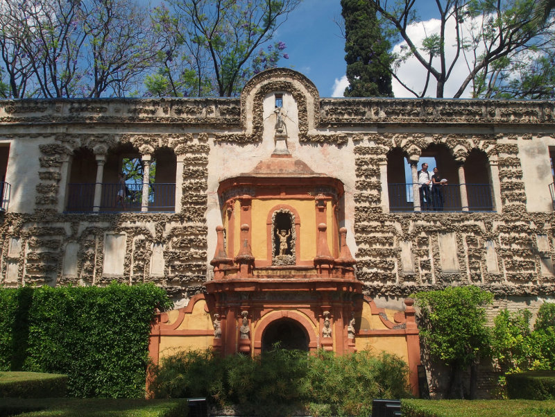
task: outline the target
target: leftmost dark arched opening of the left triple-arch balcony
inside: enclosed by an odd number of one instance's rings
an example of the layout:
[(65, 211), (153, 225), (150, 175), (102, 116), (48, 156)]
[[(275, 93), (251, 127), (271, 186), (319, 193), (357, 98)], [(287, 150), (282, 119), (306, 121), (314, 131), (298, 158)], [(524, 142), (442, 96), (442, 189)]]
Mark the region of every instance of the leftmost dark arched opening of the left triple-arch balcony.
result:
[(66, 210), (92, 212), (94, 183), (96, 182), (96, 157), (89, 148), (77, 148), (71, 158), (67, 184)]

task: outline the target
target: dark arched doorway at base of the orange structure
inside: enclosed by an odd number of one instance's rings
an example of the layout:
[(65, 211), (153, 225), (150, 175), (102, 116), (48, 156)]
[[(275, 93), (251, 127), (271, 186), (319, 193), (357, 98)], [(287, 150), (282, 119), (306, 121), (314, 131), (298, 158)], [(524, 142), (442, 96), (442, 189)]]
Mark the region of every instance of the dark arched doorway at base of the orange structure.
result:
[(262, 352), (271, 350), (275, 343), (280, 343), (283, 349), (308, 351), (308, 336), (304, 327), (291, 318), (273, 321), (264, 330)]

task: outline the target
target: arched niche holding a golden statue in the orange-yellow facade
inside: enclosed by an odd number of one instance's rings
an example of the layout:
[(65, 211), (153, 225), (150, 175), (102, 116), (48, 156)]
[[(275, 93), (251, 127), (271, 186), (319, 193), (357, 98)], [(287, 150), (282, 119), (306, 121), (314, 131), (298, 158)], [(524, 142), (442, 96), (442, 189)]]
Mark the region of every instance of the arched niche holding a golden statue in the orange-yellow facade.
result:
[(272, 264), (294, 265), (296, 260), (295, 214), (287, 209), (272, 214)]

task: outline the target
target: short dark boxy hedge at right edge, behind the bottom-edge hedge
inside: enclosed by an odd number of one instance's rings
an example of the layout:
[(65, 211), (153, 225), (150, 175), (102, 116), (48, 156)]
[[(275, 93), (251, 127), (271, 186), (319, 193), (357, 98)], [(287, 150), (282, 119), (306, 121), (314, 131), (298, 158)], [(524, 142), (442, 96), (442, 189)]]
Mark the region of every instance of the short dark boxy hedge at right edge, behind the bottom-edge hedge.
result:
[(509, 398), (555, 400), (555, 371), (529, 371), (506, 375)]

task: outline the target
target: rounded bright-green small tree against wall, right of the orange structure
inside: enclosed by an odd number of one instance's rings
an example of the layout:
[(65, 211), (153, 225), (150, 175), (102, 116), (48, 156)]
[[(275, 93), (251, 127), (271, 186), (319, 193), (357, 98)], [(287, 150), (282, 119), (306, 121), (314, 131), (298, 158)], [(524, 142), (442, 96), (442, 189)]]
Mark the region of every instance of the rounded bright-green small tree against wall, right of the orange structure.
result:
[(484, 305), (493, 295), (479, 287), (447, 287), (416, 294), (420, 335), (429, 354), (451, 368), (450, 398), (463, 398), (462, 372), (470, 367), (470, 398), (475, 398), (477, 361), (490, 346)]

